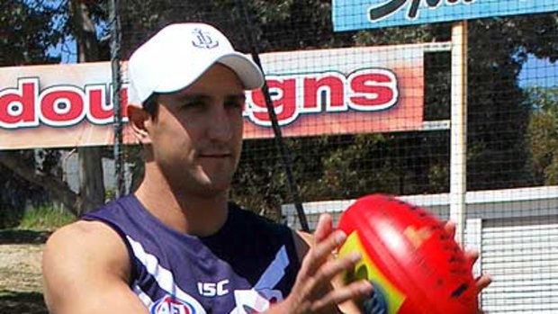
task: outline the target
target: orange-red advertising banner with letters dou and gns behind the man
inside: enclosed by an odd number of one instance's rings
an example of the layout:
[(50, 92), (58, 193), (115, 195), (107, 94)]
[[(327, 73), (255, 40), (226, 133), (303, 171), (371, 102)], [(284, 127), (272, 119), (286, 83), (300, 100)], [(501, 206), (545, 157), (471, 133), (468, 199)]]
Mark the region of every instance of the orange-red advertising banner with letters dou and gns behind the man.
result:
[[(312, 136), (419, 130), (423, 53), (405, 45), (261, 58), (284, 136)], [(112, 113), (108, 62), (0, 68), (0, 149), (111, 145)], [(243, 115), (246, 139), (273, 136), (260, 91), (247, 92)], [(127, 123), (124, 142), (135, 142)]]

